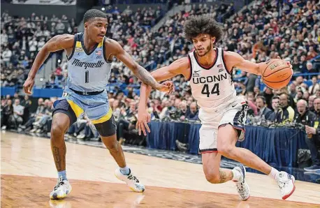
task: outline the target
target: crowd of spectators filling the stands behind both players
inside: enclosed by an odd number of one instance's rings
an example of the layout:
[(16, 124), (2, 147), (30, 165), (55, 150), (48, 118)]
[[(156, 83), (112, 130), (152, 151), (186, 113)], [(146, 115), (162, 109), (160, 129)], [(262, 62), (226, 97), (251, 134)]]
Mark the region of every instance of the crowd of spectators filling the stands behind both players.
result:
[[(254, 1), (252, 7), (244, 8), (242, 13), (235, 14), (232, 20), (224, 21), (224, 38), (217, 43), (217, 46), (238, 52), (245, 59), (256, 62), (280, 56), (291, 61), (295, 73), (319, 73), (319, 65), (314, 61), (320, 52), (319, 3), (279, 2)], [(222, 20), (223, 17), (231, 17), (235, 13), (233, 4), (207, 6), (203, 3), (198, 7), (182, 6), (184, 10), (169, 18), (157, 31), (152, 31), (150, 26), (155, 18), (163, 15), (161, 8), (157, 10), (143, 8), (135, 12), (130, 7), (122, 12), (116, 7), (107, 8), (109, 24), (106, 36), (117, 40), (139, 64), (148, 70), (153, 70), (168, 65), (193, 50), (191, 43), (188, 43), (182, 34), (184, 21), (189, 15), (211, 13), (212, 17)], [(48, 20), (48, 17), (36, 17), (36, 15), (32, 15), (28, 20), (24, 18), (13, 20), (8, 14), (3, 13), (1, 86), (24, 81), (24, 70), (29, 70), (36, 53), (48, 38), (63, 32), (77, 31), (73, 20), (68, 21), (66, 17), (62, 17), (62, 22), (54, 16)], [(57, 27), (58, 24), (61, 28), (62, 24), (65, 26), (63, 31)], [(17, 50), (18, 48), (22, 50)], [(52, 73), (50, 82), (57, 82), (57, 77), (61, 77), (60, 82), (65, 82), (67, 70), (66, 62), (61, 62), (57, 70)], [(314, 98), (320, 96), (320, 87), (317, 83), (320, 76), (317, 74), (297, 76), (289, 87), (283, 89), (272, 90), (265, 87), (261, 90), (260, 77), (244, 73), (237, 68), (234, 68), (233, 73), (238, 95), (244, 96), (249, 103), (248, 122), (251, 124), (255, 124), (256, 118), (276, 123), (298, 121), (298, 115), (303, 112), (299, 110), (300, 103), (306, 105), (305, 112), (314, 111)], [(199, 122), (198, 107), (191, 95), (189, 83), (182, 76), (173, 78), (173, 81), (177, 88), (174, 94), (152, 92), (152, 99), (148, 103), (152, 119)], [(118, 139), (126, 142), (130, 139), (132, 141), (129, 143), (140, 144), (142, 137), (139, 137), (134, 130), (139, 96), (134, 87), (126, 87), (126, 84), (134, 86), (139, 82), (128, 68), (114, 60), (110, 83), (124, 84), (109, 91), (110, 106), (117, 121)], [(3, 118), (11, 119), (3, 119), (4, 123), (1, 124), (7, 128), (21, 128), (33, 133), (48, 133), (50, 112), (55, 99), (57, 98), (46, 101), (39, 99), (36, 113), (31, 114), (28, 109), (29, 98), (24, 98), (20, 105), (22, 107), (15, 107), (20, 103), (16, 96), (12, 101), (10, 98), (5, 98), (1, 100)], [(300, 100), (306, 103), (299, 103)], [(26, 112), (27, 116), (24, 115)], [(68, 135), (81, 139), (98, 136), (85, 115), (69, 129)]]

